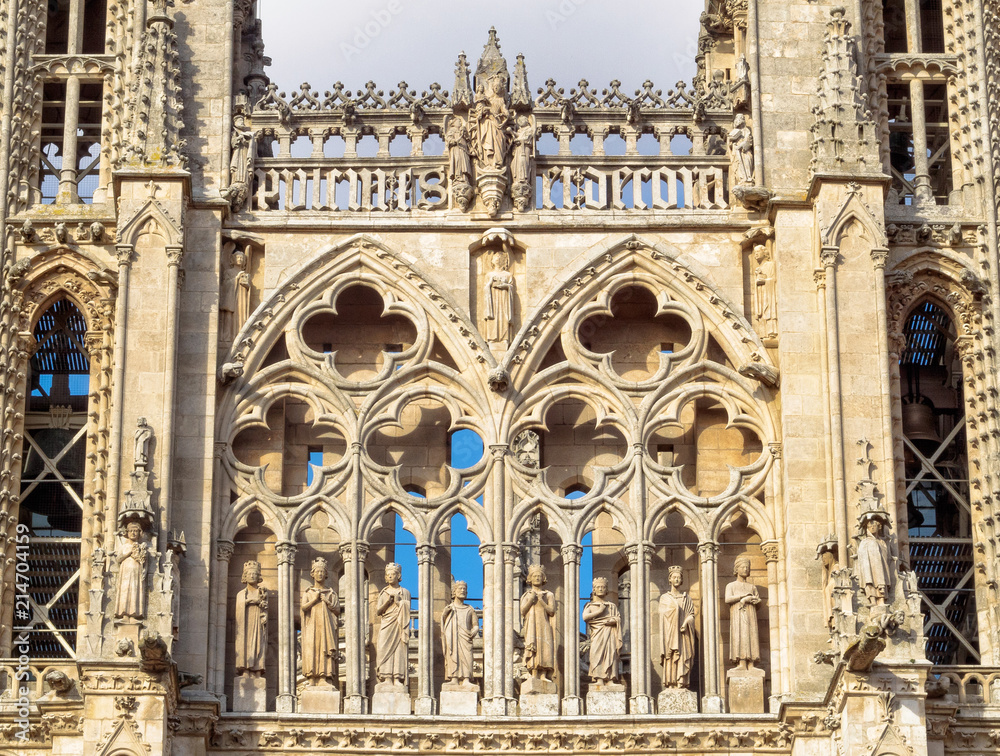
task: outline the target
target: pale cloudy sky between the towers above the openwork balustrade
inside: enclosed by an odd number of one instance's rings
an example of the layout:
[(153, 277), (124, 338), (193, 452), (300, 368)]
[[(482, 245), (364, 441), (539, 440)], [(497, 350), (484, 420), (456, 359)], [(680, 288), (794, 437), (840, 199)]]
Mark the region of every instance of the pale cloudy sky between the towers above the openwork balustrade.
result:
[(352, 90), (374, 81), (388, 93), (405, 80), (418, 93), (454, 83), (458, 54), (470, 66), (496, 26), (513, 70), (524, 53), (532, 92), (554, 78), (567, 92), (585, 78), (612, 79), (631, 94), (645, 79), (673, 87), (694, 74), (695, 0), (260, 0), (268, 73), (285, 91), (308, 81)]

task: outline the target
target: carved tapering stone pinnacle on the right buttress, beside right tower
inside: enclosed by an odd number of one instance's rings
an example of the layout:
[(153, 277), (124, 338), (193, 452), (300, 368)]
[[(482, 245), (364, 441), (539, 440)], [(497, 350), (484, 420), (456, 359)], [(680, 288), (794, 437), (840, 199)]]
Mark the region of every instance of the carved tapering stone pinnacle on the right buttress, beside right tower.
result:
[(858, 74), (857, 43), (841, 7), (826, 25), (819, 105), (813, 108), (812, 170), (881, 173), (875, 121)]

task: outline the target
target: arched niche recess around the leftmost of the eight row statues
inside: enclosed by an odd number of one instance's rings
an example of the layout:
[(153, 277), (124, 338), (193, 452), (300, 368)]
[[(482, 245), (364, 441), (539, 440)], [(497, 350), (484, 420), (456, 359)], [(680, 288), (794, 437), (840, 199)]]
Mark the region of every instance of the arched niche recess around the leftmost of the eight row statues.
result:
[(264, 515), (254, 510), (247, 515), (246, 525), (233, 537), (233, 554), (229, 559), (229, 573), (226, 581), (227, 616), (226, 623), (226, 676), (225, 694), (233, 709), (234, 685), (236, 679), (236, 628), (242, 621), (237, 617), (237, 595), (246, 586), (243, 570), (247, 562), (260, 564), (261, 587), (267, 591), (267, 647), (264, 654), (264, 679), (267, 681), (267, 703), (265, 710), (274, 711), (274, 701), (278, 693), (278, 557), (275, 552), (276, 537), (264, 522)]

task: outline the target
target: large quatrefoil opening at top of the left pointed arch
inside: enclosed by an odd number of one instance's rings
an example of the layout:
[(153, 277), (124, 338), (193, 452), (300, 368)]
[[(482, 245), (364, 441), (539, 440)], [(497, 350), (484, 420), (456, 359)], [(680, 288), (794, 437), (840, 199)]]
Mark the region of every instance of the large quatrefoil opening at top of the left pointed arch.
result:
[(301, 338), (345, 380), (365, 383), (387, 377), (393, 365), (411, 356), (417, 328), (408, 317), (388, 312), (377, 291), (358, 284), (340, 292), (335, 309), (309, 316)]

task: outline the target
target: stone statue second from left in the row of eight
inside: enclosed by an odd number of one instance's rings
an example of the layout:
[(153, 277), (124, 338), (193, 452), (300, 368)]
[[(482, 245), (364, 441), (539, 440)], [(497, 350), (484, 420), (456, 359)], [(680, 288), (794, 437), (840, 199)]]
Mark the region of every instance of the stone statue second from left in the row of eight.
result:
[(302, 592), (302, 676), (310, 685), (337, 684), (337, 615), (340, 599), (326, 587), (330, 571), (323, 557), (309, 570), (313, 584)]

